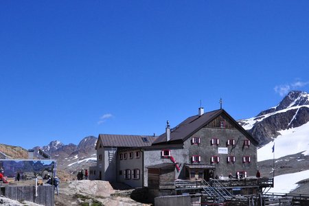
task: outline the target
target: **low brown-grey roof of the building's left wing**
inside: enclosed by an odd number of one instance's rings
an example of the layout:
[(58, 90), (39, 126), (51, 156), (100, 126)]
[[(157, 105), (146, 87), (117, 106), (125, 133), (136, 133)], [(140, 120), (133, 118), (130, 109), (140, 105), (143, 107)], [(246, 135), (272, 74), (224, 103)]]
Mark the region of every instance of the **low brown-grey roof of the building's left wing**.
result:
[[(144, 147), (151, 146), (156, 137), (144, 135), (108, 135), (100, 134), (98, 139), (101, 139), (104, 147)], [(146, 140), (146, 141), (145, 141)]]

